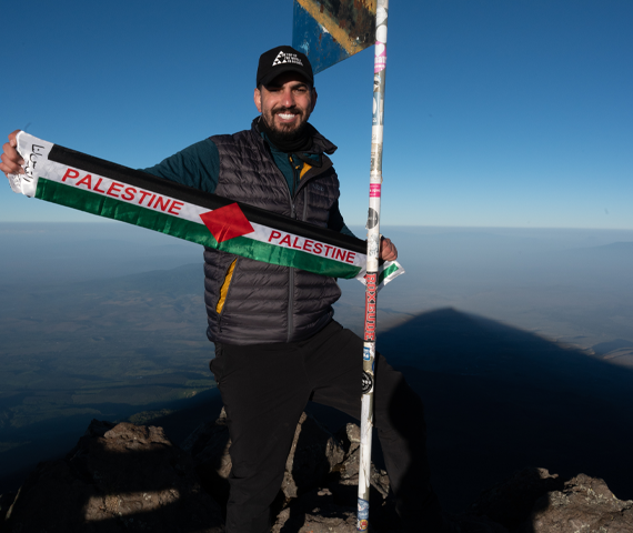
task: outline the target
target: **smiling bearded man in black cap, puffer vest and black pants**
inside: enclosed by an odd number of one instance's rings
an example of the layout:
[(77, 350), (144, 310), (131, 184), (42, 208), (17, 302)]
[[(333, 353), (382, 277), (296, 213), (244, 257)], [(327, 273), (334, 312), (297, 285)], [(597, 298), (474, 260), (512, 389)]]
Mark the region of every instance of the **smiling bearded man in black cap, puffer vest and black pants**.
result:
[[(254, 103), (261, 114), (250, 130), (211, 137), (147, 172), (351, 234), (328, 157), (336, 147), (308, 122), (316, 104), (308, 58), (290, 47), (264, 52)], [(23, 172), (16, 133), (4, 144), (6, 173)], [(396, 257), (384, 239), (381, 258)], [(332, 278), (212, 249), (204, 274), (211, 370), (232, 440), (227, 532), (263, 533), (307, 402), (360, 418), (362, 340), (332, 320), (341, 294)], [(375, 376), (374, 424), (399, 512), (409, 531), (439, 532), (422, 403), (381, 354)]]

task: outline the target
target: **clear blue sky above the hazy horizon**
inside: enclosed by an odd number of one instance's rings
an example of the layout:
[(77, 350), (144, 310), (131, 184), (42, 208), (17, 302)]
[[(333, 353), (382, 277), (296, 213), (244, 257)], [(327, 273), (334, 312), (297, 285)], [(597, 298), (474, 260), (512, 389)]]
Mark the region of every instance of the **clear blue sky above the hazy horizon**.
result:
[[(134, 168), (250, 127), (292, 0), (4, 2), (0, 134)], [(382, 224), (633, 229), (633, 1), (392, 0)], [(373, 54), (318, 74), (366, 218)], [(0, 188), (0, 221), (96, 221)]]

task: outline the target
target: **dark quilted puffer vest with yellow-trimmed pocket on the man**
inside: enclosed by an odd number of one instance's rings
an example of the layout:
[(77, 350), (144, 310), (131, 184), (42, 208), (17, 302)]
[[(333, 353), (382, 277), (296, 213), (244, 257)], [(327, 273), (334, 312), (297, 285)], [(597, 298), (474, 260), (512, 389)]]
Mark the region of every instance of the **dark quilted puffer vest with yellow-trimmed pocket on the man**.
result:
[[(332, 154), (336, 147), (314, 135), (309, 152), (323, 154), (323, 164), (303, 175), (291, 198), (288, 182), (257, 128), (258, 120), (251, 130), (211, 137), (220, 152), (215, 193), (326, 228), (330, 208), (339, 198), (339, 179), (324, 153)], [(223, 285), (225, 298), (218, 312)], [(330, 322), (332, 304), (340, 295), (333, 278), (210, 248), (204, 251), (207, 335), (213, 342), (257, 344), (308, 339)]]

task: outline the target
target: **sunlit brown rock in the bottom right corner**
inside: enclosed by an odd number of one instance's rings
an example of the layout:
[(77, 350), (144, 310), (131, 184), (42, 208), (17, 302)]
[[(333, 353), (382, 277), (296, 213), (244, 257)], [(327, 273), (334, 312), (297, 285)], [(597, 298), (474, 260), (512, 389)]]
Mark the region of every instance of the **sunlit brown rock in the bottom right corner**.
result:
[(579, 474), (536, 501), (522, 533), (633, 533), (633, 501), (617, 500), (603, 480)]

